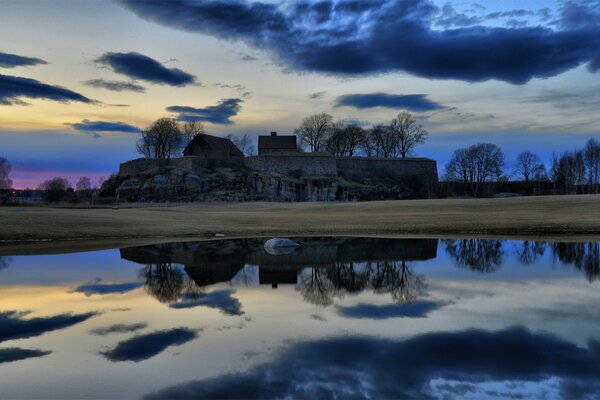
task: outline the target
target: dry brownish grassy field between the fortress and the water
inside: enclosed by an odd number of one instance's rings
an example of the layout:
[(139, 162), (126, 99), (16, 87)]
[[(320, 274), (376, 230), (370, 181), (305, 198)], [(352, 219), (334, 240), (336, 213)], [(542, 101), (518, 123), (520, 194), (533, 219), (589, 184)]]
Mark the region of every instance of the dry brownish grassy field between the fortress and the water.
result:
[[(91, 249), (216, 234), (594, 236), (600, 235), (600, 195), (365, 203), (122, 205), (118, 209), (0, 208), (0, 254), (15, 249)], [(28, 241), (56, 242), (25, 243)]]

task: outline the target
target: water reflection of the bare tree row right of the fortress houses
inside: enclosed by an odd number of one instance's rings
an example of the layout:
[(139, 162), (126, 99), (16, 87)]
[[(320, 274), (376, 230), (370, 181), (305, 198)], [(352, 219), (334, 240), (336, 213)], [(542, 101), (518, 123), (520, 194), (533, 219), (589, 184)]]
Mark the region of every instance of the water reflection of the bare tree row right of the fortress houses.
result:
[(329, 306), (335, 298), (371, 289), (391, 294), (399, 303), (410, 303), (425, 289), (425, 279), (405, 261), (377, 261), (364, 266), (338, 263), (331, 268), (307, 268), (300, 273), (297, 289), (305, 301)]

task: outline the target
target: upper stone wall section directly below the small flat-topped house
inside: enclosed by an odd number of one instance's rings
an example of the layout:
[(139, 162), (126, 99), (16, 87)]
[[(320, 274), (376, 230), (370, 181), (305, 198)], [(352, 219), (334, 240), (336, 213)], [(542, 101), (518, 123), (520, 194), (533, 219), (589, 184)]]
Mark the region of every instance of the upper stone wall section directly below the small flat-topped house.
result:
[(260, 172), (298, 176), (337, 176), (335, 157), (327, 153), (271, 153), (244, 158), (246, 167)]

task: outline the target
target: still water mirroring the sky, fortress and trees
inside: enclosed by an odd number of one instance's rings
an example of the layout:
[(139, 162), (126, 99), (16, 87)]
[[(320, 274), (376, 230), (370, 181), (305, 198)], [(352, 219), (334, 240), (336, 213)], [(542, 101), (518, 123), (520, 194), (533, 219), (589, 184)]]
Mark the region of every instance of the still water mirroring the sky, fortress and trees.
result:
[(600, 398), (600, 243), (0, 257), (2, 398)]

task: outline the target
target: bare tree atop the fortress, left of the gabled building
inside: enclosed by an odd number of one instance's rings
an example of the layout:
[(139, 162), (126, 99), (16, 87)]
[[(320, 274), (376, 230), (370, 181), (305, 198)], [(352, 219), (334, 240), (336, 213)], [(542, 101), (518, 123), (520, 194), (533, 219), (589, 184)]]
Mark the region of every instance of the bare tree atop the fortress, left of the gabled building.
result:
[(160, 118), (142, 132), (136, 148), (145, 157), (171, 158), (181, 150), (183, 143), (183, 133), (177, 121)]

